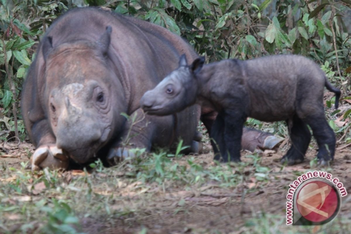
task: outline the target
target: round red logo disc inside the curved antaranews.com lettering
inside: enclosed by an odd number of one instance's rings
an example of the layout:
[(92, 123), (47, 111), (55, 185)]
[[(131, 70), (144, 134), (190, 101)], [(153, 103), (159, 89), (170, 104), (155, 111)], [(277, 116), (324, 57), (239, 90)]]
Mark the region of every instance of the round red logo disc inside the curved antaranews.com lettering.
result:
[(338, 194), (335, 188), (322, 181), (306, 183), (297, 194), (297, 209), (312, 222), (322, 222), (337, 212)]

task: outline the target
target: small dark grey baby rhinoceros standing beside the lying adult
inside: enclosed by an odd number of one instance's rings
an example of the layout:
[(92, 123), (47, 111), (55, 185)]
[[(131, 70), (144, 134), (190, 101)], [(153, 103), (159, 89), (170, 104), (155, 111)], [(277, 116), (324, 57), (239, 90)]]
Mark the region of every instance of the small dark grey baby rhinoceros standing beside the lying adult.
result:
[(169, 115), (199, 103), (218, 111), (211, 131), (214, 159), (240, 161), (240, 142), (247, 117), (261, 121), (285, 120), (291, 147), (282, 162), (294, 165), (304, 160), (312, 129), (318, 143), (321, 165), (334, 158), (335, 133), (324, 116), (323, 89), (335, 93), (319, 66), (299, 55), (273, 55), (252, 60), (228, 59), (204, 65), (204, 58), (179, 68), (141, 99), (150, 115)]

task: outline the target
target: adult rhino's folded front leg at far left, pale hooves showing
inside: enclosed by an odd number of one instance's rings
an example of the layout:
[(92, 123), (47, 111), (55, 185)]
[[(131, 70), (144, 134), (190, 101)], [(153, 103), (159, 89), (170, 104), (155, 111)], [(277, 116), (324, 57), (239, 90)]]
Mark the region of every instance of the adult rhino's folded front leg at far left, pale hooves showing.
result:
[(67, 169), (69, 159), (56, 147), (55, 138), (49, 131), (47, 120), (38, 121), (33, 125), (29, 135), (32, 142), (38, 145), (30, 159), (32, 171), (39, 171), (42, 168)]

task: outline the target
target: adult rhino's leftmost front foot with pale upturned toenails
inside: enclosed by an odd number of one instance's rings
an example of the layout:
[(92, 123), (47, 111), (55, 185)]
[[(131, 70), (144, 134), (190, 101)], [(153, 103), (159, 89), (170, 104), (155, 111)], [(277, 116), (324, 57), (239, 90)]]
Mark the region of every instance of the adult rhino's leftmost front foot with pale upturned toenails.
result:
[(40, 171), (42, 168), (67, 169), (68, 157), (56, 146), (41, 146), (35, 150), (30, 159), (32, 171)]

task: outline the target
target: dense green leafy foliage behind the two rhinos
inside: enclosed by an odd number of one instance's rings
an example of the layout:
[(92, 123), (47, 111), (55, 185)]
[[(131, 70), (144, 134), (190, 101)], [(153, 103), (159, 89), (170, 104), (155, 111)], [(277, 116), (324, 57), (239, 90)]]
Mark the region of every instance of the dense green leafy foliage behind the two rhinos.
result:
[(19, 97), (40, 36), (69, 8), (88, 5), (166, 27), (207, 61), (310, 56), (344, 95), (351, 89), (351, 28), (345, 21), (351, 16), (350, 0), (1, 0), (1, 136), (20, 133), (23, 138)]

